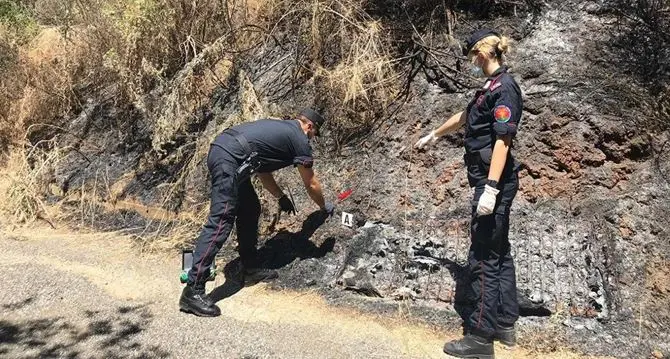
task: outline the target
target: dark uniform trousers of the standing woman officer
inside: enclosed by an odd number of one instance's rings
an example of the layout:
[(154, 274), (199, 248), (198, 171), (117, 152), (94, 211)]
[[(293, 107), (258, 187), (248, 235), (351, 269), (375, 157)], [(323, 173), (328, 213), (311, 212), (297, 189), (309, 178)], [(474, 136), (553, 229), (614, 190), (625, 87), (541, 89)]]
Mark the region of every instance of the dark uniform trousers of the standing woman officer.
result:
[(516, 274), (509, 243), (510, 207), (519, 188), (519, 178), (518, 171), (506, 167), (498, 186), (496, 207), (490, 215), (477, 215), (485, 177), (474, 181), (477, 185), (472, 202), (472, 243), (468, 255), (471, 312), (466, 311), (463, 319), (473, 334), (485, 338), (492, 338), (497, 325), (511, 326), (519, 317)]

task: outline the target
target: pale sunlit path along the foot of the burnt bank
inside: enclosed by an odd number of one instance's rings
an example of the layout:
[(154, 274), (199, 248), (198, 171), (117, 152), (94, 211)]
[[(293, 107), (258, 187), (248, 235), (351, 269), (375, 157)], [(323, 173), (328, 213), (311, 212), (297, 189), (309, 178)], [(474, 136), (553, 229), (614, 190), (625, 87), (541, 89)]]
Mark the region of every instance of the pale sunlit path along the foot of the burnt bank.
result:
[[(178, 255), (138, 255), (113, 234), (5, 233), (0, 252), (2, 357), (446, 358), (445, 339), (458, 335), (264, 285), (220, 301), (221, 317), (183, 314)], [(497, 357), (537, 355), (497, 348)]]

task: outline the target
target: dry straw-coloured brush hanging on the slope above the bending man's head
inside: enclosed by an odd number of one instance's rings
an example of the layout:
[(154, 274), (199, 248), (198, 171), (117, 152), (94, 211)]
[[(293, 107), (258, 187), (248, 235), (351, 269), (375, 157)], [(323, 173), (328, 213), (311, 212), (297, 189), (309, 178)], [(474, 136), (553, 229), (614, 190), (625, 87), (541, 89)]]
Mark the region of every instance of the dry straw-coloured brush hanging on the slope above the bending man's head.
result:
[[(268, 26), (297, 42), (296, 79), (316, 88), (336, 142), (368, 133), (399, 93), (391, 38), (366, 11), (366, 1), (277, 1)], [(307, 104), (309, 105), (309, 104)]]

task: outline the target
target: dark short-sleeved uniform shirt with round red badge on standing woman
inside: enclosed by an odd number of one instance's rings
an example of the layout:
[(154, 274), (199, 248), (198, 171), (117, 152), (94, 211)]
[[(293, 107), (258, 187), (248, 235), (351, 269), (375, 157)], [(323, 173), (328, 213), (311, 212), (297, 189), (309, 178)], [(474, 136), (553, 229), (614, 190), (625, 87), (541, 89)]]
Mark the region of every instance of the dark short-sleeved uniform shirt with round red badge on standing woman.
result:
[[(483, 171), (469, 171), (473, 177), (471, 183), (487, 175), (497, 136), (516, 135), (522, 110), (521, 89), (507, 73), (507, 67), (501, 66), (486, 80), (467, 107), (466, 164), (483, 164), (485, 167)], [(505, 167), (513, 166), (513, 162), (510, 154)], [(475, 175), (475, 172), (479, 174)]]

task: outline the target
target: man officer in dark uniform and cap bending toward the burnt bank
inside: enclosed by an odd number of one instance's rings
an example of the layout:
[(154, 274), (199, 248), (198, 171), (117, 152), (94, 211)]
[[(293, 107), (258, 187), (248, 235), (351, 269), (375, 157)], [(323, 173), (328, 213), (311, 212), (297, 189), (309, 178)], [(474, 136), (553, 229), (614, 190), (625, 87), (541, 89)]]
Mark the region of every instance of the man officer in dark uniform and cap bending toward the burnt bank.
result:
[(316, 111), (303, 110), (296, 119), (263, 119), (243, 123), (219, 134), (210, 146), (207, 168), (212, 180), (209, 218), (193, 253), (193, 267), (179, 300), (182, 311), (199, 316), (217, 316), (221, 310), (205, 295), (209, 267), (228, 238), (233, 224), (245, 280), (274, 279), (277, 272), (261, 268), (257, 258), (258, 219), (261, 205), (251, 184), (256, 174), (282, 211), (295, 213), (291, 200), (282, 192), (272, 171), (290, 165), (298, 167), (310, 198), (327, 214), (334, 205), (324, 200), (314, 175), (309, 140), (318, 135), (325, 119)]

